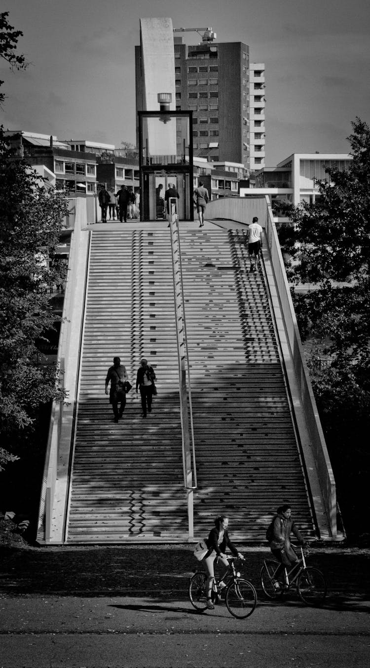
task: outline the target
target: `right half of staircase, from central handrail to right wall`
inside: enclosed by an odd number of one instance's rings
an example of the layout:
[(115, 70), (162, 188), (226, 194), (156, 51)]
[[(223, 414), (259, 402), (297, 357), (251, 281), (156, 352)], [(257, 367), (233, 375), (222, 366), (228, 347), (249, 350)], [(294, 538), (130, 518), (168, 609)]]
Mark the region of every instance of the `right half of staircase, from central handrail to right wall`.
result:
[[(195, 535), (217, 514), (260, 540), (283, 502), (314, 529), (264, 267), (241, 230), (181, 234), (198, 490)], [(268, 261), (267, 244), (264, 255)]]

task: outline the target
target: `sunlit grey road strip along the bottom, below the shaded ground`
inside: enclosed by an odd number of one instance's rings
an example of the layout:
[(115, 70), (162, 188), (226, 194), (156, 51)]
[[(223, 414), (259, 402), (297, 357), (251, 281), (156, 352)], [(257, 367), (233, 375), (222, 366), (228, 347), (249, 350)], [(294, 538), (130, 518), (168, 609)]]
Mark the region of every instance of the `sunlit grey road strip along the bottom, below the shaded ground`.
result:
[[(337, 605), (339, 603), (339, 605)], [(236, 620), (173, 597), (23, 597), (0, 600), (3, 668), (280, 668), (369, 665), (370, 607), (260, 603)]]

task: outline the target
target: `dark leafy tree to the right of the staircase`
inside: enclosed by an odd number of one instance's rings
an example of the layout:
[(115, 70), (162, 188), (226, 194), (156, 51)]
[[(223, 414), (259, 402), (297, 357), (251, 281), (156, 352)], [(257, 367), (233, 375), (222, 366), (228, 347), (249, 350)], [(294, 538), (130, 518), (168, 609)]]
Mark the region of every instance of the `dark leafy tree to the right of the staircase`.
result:
[(348, 170), (327, 168), (318, 202), (286, 206), (293, 224), (278, 233), (288, 278), (314, 287), (292, 297), (339, 496), (352, 490), (348, 517), (359, 518), (370, 474), (370, 128), (352, 126)]

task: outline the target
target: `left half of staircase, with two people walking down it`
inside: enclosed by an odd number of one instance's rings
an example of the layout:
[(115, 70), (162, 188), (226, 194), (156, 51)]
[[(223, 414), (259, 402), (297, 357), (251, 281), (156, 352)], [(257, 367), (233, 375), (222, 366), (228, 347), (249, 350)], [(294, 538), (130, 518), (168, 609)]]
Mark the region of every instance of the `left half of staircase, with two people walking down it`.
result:
[[(172, 283), (168, 230), (91, 232), (68, 542), (187, 537)], [(104, 394), (115, 355), (133, 385), (118, 424)], [(158, 379), (147, 419), (142, 357)]]

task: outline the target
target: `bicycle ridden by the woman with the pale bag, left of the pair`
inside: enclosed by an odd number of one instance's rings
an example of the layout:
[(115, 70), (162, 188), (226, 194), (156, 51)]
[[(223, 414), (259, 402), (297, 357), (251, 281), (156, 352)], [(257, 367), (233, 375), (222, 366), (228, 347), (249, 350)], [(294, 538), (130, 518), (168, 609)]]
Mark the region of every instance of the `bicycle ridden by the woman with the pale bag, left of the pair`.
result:
[[(225, 595), (225, 603), (230, 615), (237, 619), (246, 619), (254, 612), (257, 605), (256, 589), (249, 580), (240, 577), (240, 571), (236, 570), (235, 561), (237, 556), (228, 556), (227, 560), (232, 567), (232, 574), (225, 578), (226, 587), (219, 590), (219, 580), (213, 579), (211, 599), (217, 605), (221, 602), (221, 594)], [(207, 573), (203, 570), (195, 572), (189, 582), (189, 599), (191, 605), (199, 613), (207, 610)]]

